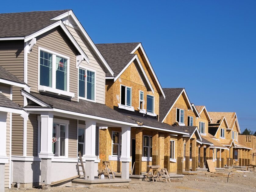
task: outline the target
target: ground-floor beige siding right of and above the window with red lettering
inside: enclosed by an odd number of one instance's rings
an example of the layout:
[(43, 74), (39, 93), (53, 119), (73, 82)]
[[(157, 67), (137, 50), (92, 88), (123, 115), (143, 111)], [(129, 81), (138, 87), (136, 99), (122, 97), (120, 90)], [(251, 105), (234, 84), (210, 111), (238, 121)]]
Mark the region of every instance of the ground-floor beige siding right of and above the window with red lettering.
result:
[(68, 134), (68, 140), (69, 140), (69, 158), (77, 158), (77, 119), (69, 119), (59, 116), (54, 116), (56, 119), (65, 119), (69, 120), (69, 134)]

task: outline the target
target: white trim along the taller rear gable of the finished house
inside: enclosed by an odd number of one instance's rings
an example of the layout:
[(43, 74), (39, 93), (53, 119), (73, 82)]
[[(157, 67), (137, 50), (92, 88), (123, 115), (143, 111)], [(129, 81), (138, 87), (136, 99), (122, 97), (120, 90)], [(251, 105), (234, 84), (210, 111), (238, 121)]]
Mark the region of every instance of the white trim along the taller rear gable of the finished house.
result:
[(114, 76), (114, 72), (112, 71), (112, 69), (110, 68), (110, 66), (108, 65), (108, 63), (106, 62), (106, 60), (103, 58), (103, 56), (101, 55), (101, 53), (99, 52), (99, 50), (97, 49), (97, 47), (95, 46), (95, 44), (93, 43), (93, 41), (91, 40), (91, 38), (89, 37), (89, 35), (87, 34), (87, 32), (84, 30), (84, 27), (81, 25), (81, 23), (79, 22), (79, 20), (76, 18), (75, 14), (73, 13), (72, 10), (67, 11), (66, 13), (63, 13), (51, 20), (61, 20), (67, 16), (71, 16), (71, 18), (74, 20), (74, 22), (76, 23), (77, 27), (80, 29), (81, 34), (84, 36), (84, 38), (88, 41), (89, 45), (91, 46), (92, 50), (96, 53), (96, 55), (98, 56), (98, 59), (100, 59), (100, 61), (102, 62), (102, 64), (105, 66), (105, 68), (107, 69), (107, 71)]

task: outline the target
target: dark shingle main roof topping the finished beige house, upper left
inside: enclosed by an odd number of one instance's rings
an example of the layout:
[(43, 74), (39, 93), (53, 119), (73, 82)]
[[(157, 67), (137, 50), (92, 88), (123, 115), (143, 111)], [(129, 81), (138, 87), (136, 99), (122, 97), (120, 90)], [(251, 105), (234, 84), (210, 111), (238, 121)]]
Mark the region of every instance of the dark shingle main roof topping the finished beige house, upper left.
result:
[(0, 37), (25, 37), (33, 34), (57, 20), (51, 20), (69, 10), (33, 11), (0, 14)]

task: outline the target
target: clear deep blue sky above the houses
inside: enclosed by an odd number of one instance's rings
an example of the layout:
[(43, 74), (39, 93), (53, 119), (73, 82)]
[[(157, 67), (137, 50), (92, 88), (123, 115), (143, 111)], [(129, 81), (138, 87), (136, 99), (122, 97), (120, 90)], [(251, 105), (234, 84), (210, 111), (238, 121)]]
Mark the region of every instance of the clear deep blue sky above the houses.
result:
[(0, 12), (61, 9), (94, 43), (142, 42), (162, 87), (256, 131), (256, 1), (3, 1)]

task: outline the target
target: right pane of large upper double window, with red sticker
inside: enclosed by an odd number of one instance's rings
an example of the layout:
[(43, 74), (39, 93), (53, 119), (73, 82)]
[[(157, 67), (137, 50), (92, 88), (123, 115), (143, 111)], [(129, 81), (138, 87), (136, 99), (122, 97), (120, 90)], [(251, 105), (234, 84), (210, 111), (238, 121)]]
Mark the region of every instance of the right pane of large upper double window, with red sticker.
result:
[(67, 59), (56, 56), (56, 89), (67, 91)]

